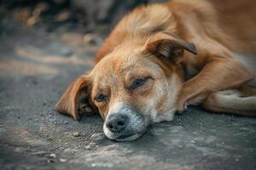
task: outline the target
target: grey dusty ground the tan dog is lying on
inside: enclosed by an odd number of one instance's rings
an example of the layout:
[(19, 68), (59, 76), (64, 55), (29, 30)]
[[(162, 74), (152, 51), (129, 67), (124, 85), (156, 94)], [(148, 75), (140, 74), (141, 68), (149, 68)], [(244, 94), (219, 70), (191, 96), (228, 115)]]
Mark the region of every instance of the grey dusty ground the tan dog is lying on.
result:
[(56, 113), (68, 84), (92, 68), (102, 37), (10, 20), (0, 27), (0, 169), (256, 169), (254, 118), (194, 107), (117, 143), (98, 115), (75, 122)]

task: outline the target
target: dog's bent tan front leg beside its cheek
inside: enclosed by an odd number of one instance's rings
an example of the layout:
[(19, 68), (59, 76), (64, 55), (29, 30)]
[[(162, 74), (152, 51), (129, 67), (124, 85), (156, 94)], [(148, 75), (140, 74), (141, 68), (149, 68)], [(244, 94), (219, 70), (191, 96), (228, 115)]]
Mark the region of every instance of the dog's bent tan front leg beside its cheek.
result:
[(216, 57), (198, 75), (183, 83), (177, 98), (177, 111), (183, 111), (190, 102), (202, 102), (209, 94), (237, 88), (251, 79), (253, 74), (236, 59)]

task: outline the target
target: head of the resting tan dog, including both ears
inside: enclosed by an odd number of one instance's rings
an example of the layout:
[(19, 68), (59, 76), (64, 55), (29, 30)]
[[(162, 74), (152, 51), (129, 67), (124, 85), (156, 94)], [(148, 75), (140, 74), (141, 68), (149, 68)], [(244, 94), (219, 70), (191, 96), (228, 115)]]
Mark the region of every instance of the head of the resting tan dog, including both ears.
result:
[(55, 105), (78, 119), (79, 106), (90, 103), (104, 119), (109, 139), (137, 139), (149, 122), (171, 121), (182, 76), (183, 50), (196, 54), (189, 42), (157, 33), (132, 37), (114, 48), (89, 74), (79, 77)]

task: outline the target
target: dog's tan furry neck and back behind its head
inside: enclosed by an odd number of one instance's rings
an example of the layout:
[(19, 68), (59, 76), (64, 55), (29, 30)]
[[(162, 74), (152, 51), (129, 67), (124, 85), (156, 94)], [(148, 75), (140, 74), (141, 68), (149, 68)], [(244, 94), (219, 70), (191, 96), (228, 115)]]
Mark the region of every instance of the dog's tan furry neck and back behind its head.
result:
[(96, 63), (134, 34), (170, 31), (192, 41), (212, 38), (231, 51), (256, 54), (256, 2), (253, 0), (174, 0), (136, 8), (113, 29)]

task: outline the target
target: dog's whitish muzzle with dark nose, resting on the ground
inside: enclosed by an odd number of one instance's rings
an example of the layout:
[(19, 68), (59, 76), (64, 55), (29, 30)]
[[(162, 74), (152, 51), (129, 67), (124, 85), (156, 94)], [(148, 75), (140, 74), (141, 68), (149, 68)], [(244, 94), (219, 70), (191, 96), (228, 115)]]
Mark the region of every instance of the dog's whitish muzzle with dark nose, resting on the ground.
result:
[(149, 118), (130, 105), (118, 103), (109, 111), (103, 130), (108, 139), (131, 141), (140, 137), (149, 124)]

